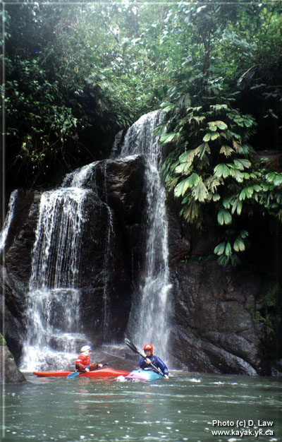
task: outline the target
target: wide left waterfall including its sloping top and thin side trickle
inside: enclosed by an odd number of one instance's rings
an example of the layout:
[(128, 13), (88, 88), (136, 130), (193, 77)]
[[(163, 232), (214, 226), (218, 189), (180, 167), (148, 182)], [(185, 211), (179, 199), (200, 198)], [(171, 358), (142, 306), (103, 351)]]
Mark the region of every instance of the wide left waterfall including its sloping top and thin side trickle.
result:
[[(80, 256), (82, 236), (89, 229), (86, 205), (97, 201), (97, 163), (67, 174), (59, 189), (42, 193), (32, 251), (32, 269), (27, 294), (27, 337), (23, 345), (21, 369), (33, 371), (71, 368), (78, 347), (87, 338), (80, 325)], [(106, 165), (104, 169), (106, 174)], [(106, 179), (105, 179), (106, 194)], [(114, 225), (108, 214), (104, 240), (103, 302), (104, 336), (109, 332), (109, 260)], [(94, 270), (94, 269), (93, 269)], [(58, 360), (60, 366), (58, 366)]]

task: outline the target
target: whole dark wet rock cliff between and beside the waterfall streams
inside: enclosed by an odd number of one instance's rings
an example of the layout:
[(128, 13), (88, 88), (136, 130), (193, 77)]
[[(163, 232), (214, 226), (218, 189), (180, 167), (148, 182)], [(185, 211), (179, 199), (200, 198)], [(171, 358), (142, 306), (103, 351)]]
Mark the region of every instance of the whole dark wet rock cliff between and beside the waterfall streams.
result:
[[(105, 342), (104, 272), (108, 274), (109, 287), (109, 340), (122, 340), (131, 300), (137, 292), (145, 253), (144, 169), (142, 155), (102, 161), (95, 168), (96, 196), (87, 200), (85, 206), (88, 222), (80, 262), (82, 322), (95, 344)], [(25, 303), (40, 193), (18, 193), (1, 267), (5, 307), (0, 318), (4, 318), (5, 338), (17, 362), (25, 335)], [(105, 270), (108, 208), (112, 234), (109, 265)], [(213, 232), (196, 232), (184, 225), (178, 218), (178, 207), (170, 198), (168, 229), (173, 301), (170, 342), (174, 366), (215, 373), (279, 374), (279, 362), (276, 360), (276, 369), (271, 369), (267, 361), (271, 357), (277, 359), (280, 345), (276, 353), (269, 354), (266, 316), (259, 313), (267, 275), (262, 277), (250, 268), (244, 271), (223, 268), (214, 258), (206, 260), (214, 249)]]

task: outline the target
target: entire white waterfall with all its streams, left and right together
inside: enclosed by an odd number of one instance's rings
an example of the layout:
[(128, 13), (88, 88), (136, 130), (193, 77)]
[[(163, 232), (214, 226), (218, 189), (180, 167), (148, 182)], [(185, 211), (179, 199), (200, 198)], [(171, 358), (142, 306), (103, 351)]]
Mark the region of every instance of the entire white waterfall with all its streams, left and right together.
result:
[[(120, 158), (141, 154), (146, 160), (145, 260), (132, 297), (128, 334), (139, 347), (152, 342), (157, 354), (166, 360), (170, 285), (166, 193), (160, 174), (162, 155), (158, 138), (154, 136), (159, 122), (159, 112), (142, 116), (128, 129), (124, 139), (123, 133), (118, 134), (114, 153), (120, 153)], [(87, 342), (80, 319), (82, 313), (88, 314), (87, 303), (87, 308), (80, 311), (84, 305), (82, 293), (87, 290), (96, 291), (97, 308), (102, 309), (100, 318), (95, 320), (99, 338), (115, 337), (111, 330), (114, 318), (111, 296), (115, 291), (115, 287), (111, 287), (111, 273), (115, 271), (113, 247), (119, 244), (119, 239), (115, 236), (116, 217), (107, 201), (108, 164), (107, 161), (93, 162), (81, 167), (67, 174), (58, 189), (42, 193), (25, 310), (27, 336), (21, 361), (21, 369), (25, 371), (73, 366), (78, 347)], [(11, 196), (11, 215), (1, 234), (2, 248), (13, 217), (15, 198), (16, 193)], [(98, 214), (97, 220), (95, 218), (96, 210), (105, 220), (99, 237), (95, 237), (95, 222), (99, 220)], [(98, 261), (93, 257), (93, 247), (99, 247)], [(85, 253), (83, 265), (80, 263), (82, 253)], [(89, 263), (85, 261), (88, 256)], [(83, 280), (88, 275), (89, 287), (88, 280)], [(90, 296), (91, 292), (87, 292), (87, 302)]]

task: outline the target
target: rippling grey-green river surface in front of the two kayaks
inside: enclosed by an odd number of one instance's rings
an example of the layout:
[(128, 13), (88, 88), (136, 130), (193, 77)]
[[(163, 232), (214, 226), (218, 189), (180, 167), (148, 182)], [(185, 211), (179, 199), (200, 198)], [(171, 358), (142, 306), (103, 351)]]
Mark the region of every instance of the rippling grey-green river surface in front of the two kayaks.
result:
[[(1, 440), (282, 440), (281, 378), (172, 375), (147, 383), (28, 374), (2, 394)], [(230, 433), (212, 434), (222, 430)]]

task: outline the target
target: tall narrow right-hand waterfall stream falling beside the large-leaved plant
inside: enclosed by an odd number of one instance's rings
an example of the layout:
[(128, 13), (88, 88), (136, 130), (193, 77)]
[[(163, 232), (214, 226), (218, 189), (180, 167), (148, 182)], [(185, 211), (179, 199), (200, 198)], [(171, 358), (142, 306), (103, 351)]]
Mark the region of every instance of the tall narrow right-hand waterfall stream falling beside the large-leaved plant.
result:
[(140, 278), (140, 296), (133, 299), (128, 333), (142, 346), (152, 342), (161, 357), (168, 357), (169, 289), (168, 228), (166, 192), (161, 181), (161, 148), (154, 128), (160, 112), (143, 115), (128, 129), (121, 157), (142, 154), (147, 159), (147, 244), (144, 276)]

